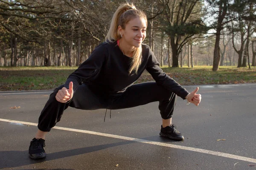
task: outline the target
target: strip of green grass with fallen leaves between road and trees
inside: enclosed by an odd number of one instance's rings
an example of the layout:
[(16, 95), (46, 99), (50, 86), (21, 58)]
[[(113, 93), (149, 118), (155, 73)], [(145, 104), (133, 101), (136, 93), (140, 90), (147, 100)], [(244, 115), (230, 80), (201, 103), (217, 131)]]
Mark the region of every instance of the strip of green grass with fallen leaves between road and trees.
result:
[[(66, 82), (77, 67), (0, 67), (0, 91), (49, 90)], [(256, 83), (256, 67), (251, 69), (220, 66), (168, 68), (163, 71), (181, 85)], [(137, 82), (153, 81), (147, 72)]]

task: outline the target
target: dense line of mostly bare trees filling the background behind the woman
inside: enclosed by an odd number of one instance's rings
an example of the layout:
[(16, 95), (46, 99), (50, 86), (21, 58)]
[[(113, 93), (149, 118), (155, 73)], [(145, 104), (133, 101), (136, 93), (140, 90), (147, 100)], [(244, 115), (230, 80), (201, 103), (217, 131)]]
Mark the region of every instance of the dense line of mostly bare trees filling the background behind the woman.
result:
[[(79, 66), (124, 0), (0, 0), (1, 66)], [(255, 0), (128, 0), (161, 65), (256, 65)]]

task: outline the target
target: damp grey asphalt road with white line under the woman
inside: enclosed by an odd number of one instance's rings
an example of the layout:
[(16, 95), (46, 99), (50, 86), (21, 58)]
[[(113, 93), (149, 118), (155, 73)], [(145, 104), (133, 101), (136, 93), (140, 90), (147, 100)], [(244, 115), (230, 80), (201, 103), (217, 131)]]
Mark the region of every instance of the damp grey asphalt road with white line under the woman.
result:
[(68, 108), (49, 132), (41, 160), (30, 159), (28, 148), (51, 91), (0, 92), (0, 169), (256, 169), (256, 84), (199, 88), (198, 107), (177, 101), (172, 122), (183, 141), (159, 136), (158, 102), (112, 110), (111, 119), (108, 111), (105, 122), (104, 109)]

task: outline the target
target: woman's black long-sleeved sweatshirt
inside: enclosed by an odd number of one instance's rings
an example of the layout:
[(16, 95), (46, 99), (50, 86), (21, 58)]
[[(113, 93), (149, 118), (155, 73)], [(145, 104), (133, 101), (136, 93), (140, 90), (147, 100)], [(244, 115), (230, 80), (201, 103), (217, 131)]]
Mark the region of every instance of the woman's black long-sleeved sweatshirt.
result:
[(189, 94), (162, 71), (148, 45), (142, 44), (142, 62), (137, 74), (132, 71), (129, 75), (130, 65), (131, 57), (122, 53), (117, 42), (102, 42), (93, 50), (90, 57), (70, 74), (64, 87), (68, 89), (69, 83), (73, 82), (73, 90), (76, 91), (79, 85), (85, 83), (108, 93), (118, 93), (131, 86), (146, 69), (158, 85), (174, 92), (182, 99)]

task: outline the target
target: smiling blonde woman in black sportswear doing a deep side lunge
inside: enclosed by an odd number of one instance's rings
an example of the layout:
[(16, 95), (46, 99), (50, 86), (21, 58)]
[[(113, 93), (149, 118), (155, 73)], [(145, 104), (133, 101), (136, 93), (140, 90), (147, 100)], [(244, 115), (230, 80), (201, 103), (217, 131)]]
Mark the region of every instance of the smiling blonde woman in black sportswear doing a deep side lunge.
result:
[[(83, 110), (122, 109), (159, 101), (162, 117), (160, 136), (183, 140), (172, 125), (177, 96), (199, 105), (201, 95), (189, 93), (159, 67), (151, 49), (142, 44), (146, 37), (146, 15), (132, 4), (119, 6), (113, 15), (106, 42), (98, 45), (90, 57), (56, 88), (44, 106), (38, 132), (29, 146), (32, 159), (46, 156), (44, 139), (59, 122), (67, 107)], [(133, 85), (144, 70), (155, 82)], [(150, 93), (149, 93), (150, 92)]]

